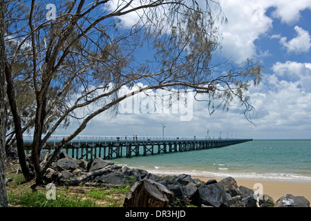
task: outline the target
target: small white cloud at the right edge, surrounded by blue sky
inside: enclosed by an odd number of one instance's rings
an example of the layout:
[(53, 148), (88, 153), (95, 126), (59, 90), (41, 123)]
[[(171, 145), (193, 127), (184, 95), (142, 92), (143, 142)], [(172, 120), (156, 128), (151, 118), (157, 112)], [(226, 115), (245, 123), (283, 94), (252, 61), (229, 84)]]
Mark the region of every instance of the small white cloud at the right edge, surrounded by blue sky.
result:
[(295, 26), (296, 37), (288, 41), (287, 37), (281, 37), (280, 44), (286, 48), (288, 52), (301, 53), (309, 52), (311, 48), (311, 38), (307, 30), (303, 30), (299, 26)]

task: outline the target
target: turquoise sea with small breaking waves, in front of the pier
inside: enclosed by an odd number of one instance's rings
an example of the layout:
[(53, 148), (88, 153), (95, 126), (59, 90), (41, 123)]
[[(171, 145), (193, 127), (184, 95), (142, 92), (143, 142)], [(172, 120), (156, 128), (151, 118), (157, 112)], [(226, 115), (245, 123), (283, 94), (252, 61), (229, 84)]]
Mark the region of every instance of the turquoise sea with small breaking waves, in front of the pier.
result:
[(155, 174), (311, 184), (311, 140), (254, 140), (200, 151), (114, 159)]

